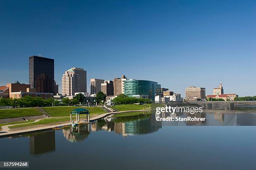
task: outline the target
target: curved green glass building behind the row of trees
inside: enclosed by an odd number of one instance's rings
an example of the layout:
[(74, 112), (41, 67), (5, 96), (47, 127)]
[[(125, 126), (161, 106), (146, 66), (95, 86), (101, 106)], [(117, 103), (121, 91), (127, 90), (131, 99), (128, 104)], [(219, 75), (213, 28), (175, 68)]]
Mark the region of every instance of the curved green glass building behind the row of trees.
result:
[(155, 95), (160, 95), (161, 85), (148, 80), (124, 80), (123, 88), (124, 94), (129, 97), (155, 100)]

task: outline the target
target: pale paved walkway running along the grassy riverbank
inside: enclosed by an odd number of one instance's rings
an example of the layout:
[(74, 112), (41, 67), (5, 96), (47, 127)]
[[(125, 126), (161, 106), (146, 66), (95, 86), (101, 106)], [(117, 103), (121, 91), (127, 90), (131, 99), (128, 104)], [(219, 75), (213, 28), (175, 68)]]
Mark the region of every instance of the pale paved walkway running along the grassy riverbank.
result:
[[(128, 110), (128, 111), (120, 111), (120, 112), (108, 112), (108, 113), (103, 113), (103, 114), (97, 115), (93, 118), (90, 118), (90, 122), (101, 119), (102, 117), (105, 117), (105, 116), (111, 115), (111, 114), (115, 115), (115, 114), (125, 113), (125, 112), (140, 112), (140, 111), (153, 111), (153, 110)], [(58, 117), (50, 117), (48, 119), (51, 119), (51, 118), (58, 118)], [(42, 119), (35, 120), (34, 122), (38, 122), (40, 120), (42, 120)], [(82, 123), (89, 123), (86, 120), (82, 120), (81, 122)], [(29, 123), (33, 123), (33, 122), (29, 122)], [(24, 123), (22, 123), (22, 124), (24, 124)], [(20, 125), (20, 124), (15, 124), (15, 125)], [(10, 135), (22, 134), (22, 133), (36, 132), (36, 131), (40, 131), (40, 130), (48, 130), (48, 129), (55, 128), (56, 126), (64, 126), (64, 125), (71, 125), (71, 122), (63, 123), (63, 124), (57, 124), (57, 125), (51, 125), (51, 126), (38, 127), (38, 128), (15, 130), (15, 131), (9, 131), (10, 130), (9, 126), (13, 126), (13, 125), (4, 125), (4, 126), (2, 126), (3, 130), (0, 131), (0, 138), (5, 137), (5, 136), (10, 136)]]

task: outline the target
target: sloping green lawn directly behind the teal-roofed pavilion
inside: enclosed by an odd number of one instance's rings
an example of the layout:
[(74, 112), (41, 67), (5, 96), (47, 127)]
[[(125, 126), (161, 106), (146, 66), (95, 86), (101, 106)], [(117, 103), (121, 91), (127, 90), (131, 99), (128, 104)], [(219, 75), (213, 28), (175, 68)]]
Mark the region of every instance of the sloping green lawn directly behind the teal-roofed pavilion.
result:
[[(54, 106), (54, 107), (42, 107), (52, 117), (64, 117), (69, 116), (70, 112), (76, 108), (75, 106)], [(90, 115), (106, 113), (101, 107), (80, 107), (89, 110)]]

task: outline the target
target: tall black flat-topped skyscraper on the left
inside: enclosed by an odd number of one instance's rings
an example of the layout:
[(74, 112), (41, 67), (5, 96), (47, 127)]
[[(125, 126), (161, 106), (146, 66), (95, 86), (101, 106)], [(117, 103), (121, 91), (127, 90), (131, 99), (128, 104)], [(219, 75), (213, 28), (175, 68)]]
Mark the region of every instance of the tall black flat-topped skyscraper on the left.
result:
[(54, 59), (29, 57), (29, 84), (36, 92), (54, 93)]

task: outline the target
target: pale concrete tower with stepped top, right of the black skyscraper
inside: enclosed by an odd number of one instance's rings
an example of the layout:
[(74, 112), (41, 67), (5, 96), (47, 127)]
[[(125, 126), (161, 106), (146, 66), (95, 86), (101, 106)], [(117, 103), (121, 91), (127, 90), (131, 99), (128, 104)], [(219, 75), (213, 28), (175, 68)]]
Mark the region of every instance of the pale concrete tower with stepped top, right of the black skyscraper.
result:
[(62, 76), (62, 95), (72, 96), (75, 92), (81, 92), (81, 77), (71, 68)]

